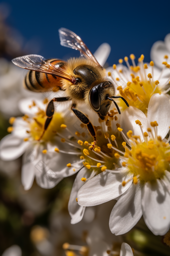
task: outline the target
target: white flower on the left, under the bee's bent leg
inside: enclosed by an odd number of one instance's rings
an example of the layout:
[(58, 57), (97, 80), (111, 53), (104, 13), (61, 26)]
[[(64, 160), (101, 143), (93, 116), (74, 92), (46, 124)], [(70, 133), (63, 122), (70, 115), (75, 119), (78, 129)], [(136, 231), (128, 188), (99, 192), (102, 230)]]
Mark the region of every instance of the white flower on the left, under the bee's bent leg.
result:
[[(20, 110), (26, 114), (23, 117), (10, 119), (13, 122), (13, 127), (10, 127), (8, 131), (12, 132), (0, 142), (0, 158), (4, 161), (12, 161), (23, 154), (21, 181), (25, 190), (32, 186), (34, 177), (40, 187), (54, 187), (62, 178), (77, 172), (82, 162), (79, 161), (70, 168), (66, 166), (69, 162), (71, 164), (77, 162), (80, 154), (69, 146), (74, 143), (66, 141), (66, 150), (63, 147), (62, 134), (65, 136), (68, 132), (64, 131), (60, 125), (64, 122), (64, 114), (66, 115), (65, 119), (68, 119), (65, 123), (71, 125), (69, 118), (72, 113), (67, 109), (67, 105), (57, 105), (53, 119), (42, 140), (37, 141), (43, 131), (46, 105), (35, 99), (33, 101), (24, 99), (20, 101), (19, 105)], [(57, 132), (60, 133), (57, 134)], [(58, 136), (55, 136), (56, 134)], [(60, 154), (63, 157), (60, 157)]]

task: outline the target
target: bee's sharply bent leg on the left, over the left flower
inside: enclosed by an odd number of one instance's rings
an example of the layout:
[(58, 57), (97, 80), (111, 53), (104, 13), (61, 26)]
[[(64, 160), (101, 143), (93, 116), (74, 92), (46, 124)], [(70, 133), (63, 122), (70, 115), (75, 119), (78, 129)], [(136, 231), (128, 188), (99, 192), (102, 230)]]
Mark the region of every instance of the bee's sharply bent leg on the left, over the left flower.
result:
[(40, 136), (40, 138), (38, 139), (38, 141), (40, 141), (40, 139), (42, 138), (42, 136), (44, 135), (50, 121), (52, 120), (52, 116), (54, 114), (54, 105), (53, 105), (53, 102), (54, 101), (57, 101), (57, 102), (61, 102), (61, 101), (67, 101), (69, 100), (68, 97), (59, 97), (59, 98), (53, 98), (49, 101), (47, 107), (46, 107), (46, 120), (45, 120), (45, 124), (44, 124), (44, 127), (43, 127), (43, 132)]

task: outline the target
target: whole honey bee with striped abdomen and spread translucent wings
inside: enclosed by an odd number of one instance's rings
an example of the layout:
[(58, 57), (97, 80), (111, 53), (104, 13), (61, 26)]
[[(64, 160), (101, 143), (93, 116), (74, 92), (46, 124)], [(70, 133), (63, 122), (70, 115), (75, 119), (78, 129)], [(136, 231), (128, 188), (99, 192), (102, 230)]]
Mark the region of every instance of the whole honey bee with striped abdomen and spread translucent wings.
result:
[[(111, 102), (120, 110), (114, 98), (121, 98), (128, 106), (127, 101), (121, 96), (115, 96), (115, 86), (106, 78), (103, 68), (86, 47), (84, 42), (72, 31), (61, 28), (58, 30), (60, 44), (80, 52), (80, 58), (69, 59), (67, 62), (59, 59), (46, 60), (40, 55), (25, 55), (17, 57), (12, 62), (21, 68), (28, 69), (24, 79), (25, 87), (30, 91), (46, 92), (53, 89), (64, 90), (65, 97), (51, 99), (46, 108), (42, 138), (54, 113), (54, 102), (72, 100), (71, 110), (86, 125), (93, 138), (93, 147), (96, 144), (95, 129), (88, 117), (76, 108), (76, 103), (85, 102), (98, 116), (104, 120)], [(85, 58), (82, 58), (85, 57)]]

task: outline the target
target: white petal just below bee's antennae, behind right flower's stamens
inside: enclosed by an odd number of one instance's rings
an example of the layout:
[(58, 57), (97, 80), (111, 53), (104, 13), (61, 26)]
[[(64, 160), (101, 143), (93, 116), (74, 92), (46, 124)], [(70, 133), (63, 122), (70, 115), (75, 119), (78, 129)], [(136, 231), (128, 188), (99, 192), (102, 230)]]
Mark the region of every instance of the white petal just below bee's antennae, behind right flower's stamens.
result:
[(144, 131), (147, 129), (147, 118), (145, 114), (138, 108), (129, 106), (126, 108), (122, 114), (120, 119), (120, 127), (123, 129), (123, 133), (126, 133), (131, 130), (133, 135), (139, 135), (142, 137), (142, 133), (138, 124), (135, 123), (135, 120), (139, 120), (142, 123), (142, 128)]

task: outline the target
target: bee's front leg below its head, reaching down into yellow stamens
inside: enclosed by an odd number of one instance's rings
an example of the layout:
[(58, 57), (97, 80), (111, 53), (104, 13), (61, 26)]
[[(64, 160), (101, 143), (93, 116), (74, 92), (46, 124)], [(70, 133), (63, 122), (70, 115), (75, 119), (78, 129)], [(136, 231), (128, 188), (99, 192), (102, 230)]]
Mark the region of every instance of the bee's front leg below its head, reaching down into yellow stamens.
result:
[(85, 114), (83, 114), (81, 111), (76, 109), (74, 106), (71, 107), (71, 110), (74, 112), (74, 114), (78, 117), (78, 119), (83, 124), (86, 124), (88, 132), (91, 135), (91, 137), (93, 138), (93, 145), (92, 145), (92, 148), (90, 148), (90, 150), (92, 150), (94, 148), (94, 146), (96, 145), (96, 141), (97, 141), (96, 140), (96, 134), (95, 134), (94, 126), (89, 121), (88, 117)]

